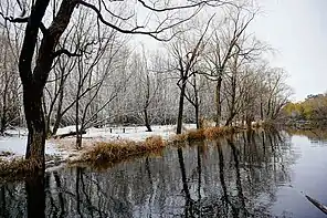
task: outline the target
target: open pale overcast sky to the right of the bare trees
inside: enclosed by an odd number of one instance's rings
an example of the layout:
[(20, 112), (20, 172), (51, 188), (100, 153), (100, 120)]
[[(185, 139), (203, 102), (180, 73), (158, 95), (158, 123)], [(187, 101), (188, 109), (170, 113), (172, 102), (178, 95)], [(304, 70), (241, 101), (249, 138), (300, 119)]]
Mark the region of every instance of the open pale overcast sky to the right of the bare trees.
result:
[(327, 91), (327, 0), (263, 0), (256, 35), (278, 52), (272, 60), (289, 74), (294, 100)]

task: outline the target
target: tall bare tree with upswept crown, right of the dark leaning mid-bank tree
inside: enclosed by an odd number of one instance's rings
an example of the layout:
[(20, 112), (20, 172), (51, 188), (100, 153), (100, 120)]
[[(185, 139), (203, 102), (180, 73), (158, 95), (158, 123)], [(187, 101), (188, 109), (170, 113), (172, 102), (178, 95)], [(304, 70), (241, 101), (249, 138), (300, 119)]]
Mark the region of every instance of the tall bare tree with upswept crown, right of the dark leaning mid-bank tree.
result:
[(249, 54), (254, 52), (257, 44), (246, 51), (238, 51), (238, 44), (240, 41), (247, 40), (245, 30), (250, 23), (254, 20), (257, 10), (251, 9), (247, 2), (242, 4), (233, 4), (228, 7), (228, 10), (223, 17), (223, 21), (217, 24), (212, 24), (213, 34), (209, 42), (208, 52), (205, 55), (207, 69), (204, 74), (208, 79), (217, 81), (215, 84), (215, 125), (221, 123), (222, 111), (222, 96), (221, 89), (222, 82), (226, 74), (226, 68), (229, 61), (235, 55)]

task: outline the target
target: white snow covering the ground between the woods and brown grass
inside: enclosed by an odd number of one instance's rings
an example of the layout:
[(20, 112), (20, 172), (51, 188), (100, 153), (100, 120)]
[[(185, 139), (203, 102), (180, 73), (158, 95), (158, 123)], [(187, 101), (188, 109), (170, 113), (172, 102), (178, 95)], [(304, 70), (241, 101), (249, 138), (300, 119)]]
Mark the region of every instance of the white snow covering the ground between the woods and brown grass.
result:
[[(85, 145), (93, 145), (95, 142), (108, 142), (115, 139), (130, 139), (130, 141), (145, 141), (150, 136), (161, 136), (164, 139), (169, 139), (175, 135), (176, 125), (154, 125), (152, 132), (146, 132), (144, 126), (116, 126), (103, 128), (88, 128), (86, 134), (83, 134), (83, 142)], [(183, 125), (183, 131), (196, 128), (194, 124)], [(75, 126), (66, 126), (57, 131), (57, 135), (70, 132), (75, 132)], [(12, 159), (22, 157), (27, 148), (25, 128), (17, 128), (7, 131), (9, 136), (0, 137), (0, 159)], [(61, 159), (66, 159), (70, 156), (75, 156), (78, 150), (75, 149), (75, 137), (70, 136), (63, 139), (46, 141), (45, 154), (50, 156), (57, 156)]]

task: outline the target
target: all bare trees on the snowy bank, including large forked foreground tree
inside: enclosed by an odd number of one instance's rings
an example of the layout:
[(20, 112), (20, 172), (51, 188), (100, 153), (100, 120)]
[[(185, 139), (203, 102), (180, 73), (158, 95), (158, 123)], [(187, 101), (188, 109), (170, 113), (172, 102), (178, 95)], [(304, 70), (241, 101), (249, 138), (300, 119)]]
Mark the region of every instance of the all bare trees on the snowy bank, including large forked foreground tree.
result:
[(45, 138), (65, 125), (81, 146), (106, 124), (177, 123), (179, 134), (201, 118), (275, 120), (289, 87), (247, 31), (256, 15), (250, 0), (1, 1), (0, 132), (27, 125), (27, 158), (44, 163)]

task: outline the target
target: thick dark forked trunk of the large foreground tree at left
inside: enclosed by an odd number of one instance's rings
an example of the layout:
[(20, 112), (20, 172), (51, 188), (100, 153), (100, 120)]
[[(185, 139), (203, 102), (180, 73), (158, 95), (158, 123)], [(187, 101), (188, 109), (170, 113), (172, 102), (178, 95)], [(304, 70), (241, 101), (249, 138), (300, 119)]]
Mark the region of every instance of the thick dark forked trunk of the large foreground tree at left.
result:
[(35, 68), (32, 70), (39, 29), (50, 0), (36, 0), (24, 32), (19, 59), (19, 72), (23, 85), (25, 120), (29, 129), (27, 159), (32, 160), (34, 169), (44, 170), (45, 122), (42, 110), (43, 89), (49, 77), (55, 48), (70, 23), (76, 0), (63, 0), (49, 29), (43, 28), (43, 39), (36, 52)]

